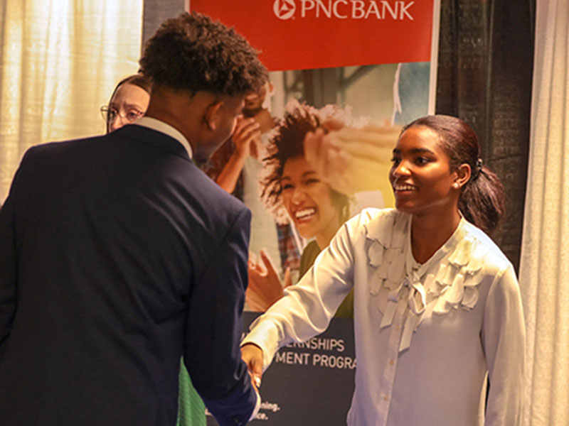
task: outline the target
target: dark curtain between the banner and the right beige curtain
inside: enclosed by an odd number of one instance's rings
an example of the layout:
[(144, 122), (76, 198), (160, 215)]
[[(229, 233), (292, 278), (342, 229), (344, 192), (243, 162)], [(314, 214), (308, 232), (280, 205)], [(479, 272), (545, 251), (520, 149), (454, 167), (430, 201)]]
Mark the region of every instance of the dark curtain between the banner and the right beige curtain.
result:
[(506, 190), (492, 236), (519, 270), (529, 148), (535, 0), (441, 0), (437, 114), (467, 121)]

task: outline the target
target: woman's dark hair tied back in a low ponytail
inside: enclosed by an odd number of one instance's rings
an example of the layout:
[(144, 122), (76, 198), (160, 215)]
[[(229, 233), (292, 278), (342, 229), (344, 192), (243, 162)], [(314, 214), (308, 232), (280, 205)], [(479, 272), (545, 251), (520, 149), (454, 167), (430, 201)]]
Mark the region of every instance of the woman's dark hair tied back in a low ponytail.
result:
[(465, 219), (491, 234), (504, 215), (504, 186), (496, 173), (482, 164), (477, 134), (461, 119), (446, 115), (422, 117), (403, 127), (403, 131), (417, 126), (425, 126), (439, 135), (441, 147), (450, 158), (451, 170), (462, 164), (470, 166), (472, 173), (462, 187), (458, 207)]

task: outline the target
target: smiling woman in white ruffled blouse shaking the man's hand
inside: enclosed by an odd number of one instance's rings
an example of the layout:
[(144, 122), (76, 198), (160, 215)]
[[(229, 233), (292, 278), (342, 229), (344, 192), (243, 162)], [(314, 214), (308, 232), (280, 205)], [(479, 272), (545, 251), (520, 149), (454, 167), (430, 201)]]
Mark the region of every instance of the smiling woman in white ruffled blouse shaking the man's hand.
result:
[(486, 235), (504, 191), (482, 165), (476, 134), (450, 116), (413, 121), (393, 150), (390, 182), (396, 209), (346, 222), (253, 324), (243, 359), (260, 376), (280, 346), (324, 331), (353, 288), (348, 425), (520, 425), (521, 297), (514, 268)]

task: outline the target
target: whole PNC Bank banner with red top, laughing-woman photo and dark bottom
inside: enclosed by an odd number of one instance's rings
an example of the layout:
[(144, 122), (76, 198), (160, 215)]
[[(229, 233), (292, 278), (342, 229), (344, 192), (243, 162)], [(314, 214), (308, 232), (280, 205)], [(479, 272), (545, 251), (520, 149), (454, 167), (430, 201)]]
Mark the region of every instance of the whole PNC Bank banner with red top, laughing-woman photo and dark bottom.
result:
[[(248, 329), (341, 224), (365, 207), (393, 207), (388, 170), (401, 126), (434, 113), (439, 0), (191, 0), (190, 10), (233, 26), (270, 70), (204, 166), (252, 212)], [(321, 155), (318, 131), (341, 158)], [(345, 424), (352, 318), (350, 294), (317, 340), (280, 350), (253, 424)]]

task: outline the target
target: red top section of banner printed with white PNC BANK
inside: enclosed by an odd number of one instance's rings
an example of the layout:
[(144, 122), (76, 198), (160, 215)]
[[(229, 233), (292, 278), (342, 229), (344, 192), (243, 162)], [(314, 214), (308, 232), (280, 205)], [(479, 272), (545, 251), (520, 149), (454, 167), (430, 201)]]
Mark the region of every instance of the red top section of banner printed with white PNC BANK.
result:
[(427, 62), (435, 0), (191, 0), (271, 70)]

